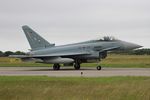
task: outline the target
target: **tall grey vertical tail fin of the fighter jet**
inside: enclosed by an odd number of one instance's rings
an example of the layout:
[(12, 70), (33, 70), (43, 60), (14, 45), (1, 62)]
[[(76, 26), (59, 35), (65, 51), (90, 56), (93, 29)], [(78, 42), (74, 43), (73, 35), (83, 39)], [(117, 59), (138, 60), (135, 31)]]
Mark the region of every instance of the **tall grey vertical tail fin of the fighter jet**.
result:
[(55, 46), (55, 44), (50, 44), (48, 41), (46, 41), (43, 37), (38, 35), (35, 31), (33, 31), (28, 26), (24, 25), (22, 26), (22, 29), (33, 51)]

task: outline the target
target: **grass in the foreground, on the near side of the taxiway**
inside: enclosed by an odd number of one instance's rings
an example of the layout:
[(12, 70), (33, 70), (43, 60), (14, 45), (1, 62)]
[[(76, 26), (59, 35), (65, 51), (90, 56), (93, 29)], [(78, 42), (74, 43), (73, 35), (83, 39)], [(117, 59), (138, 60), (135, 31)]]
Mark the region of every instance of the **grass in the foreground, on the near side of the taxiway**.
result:
[(150, 100), (150, 77), (0, 76), (0, 100)]

